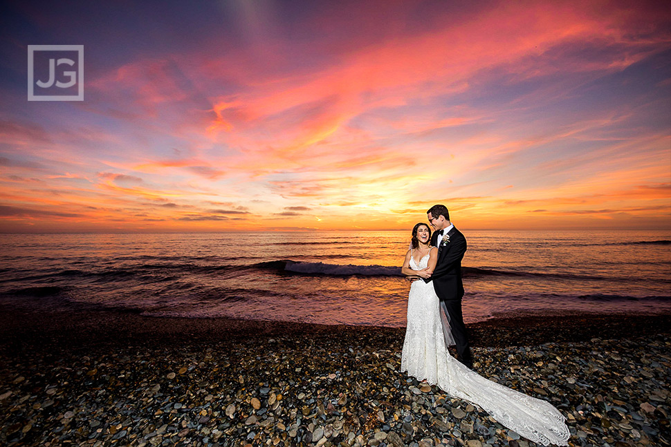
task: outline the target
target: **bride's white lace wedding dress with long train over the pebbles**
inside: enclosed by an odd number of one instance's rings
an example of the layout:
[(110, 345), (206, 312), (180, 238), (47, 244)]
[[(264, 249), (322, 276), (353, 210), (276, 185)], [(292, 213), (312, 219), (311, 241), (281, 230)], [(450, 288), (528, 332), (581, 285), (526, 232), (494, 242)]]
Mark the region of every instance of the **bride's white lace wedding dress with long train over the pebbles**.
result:
[[(410, 259), (410, 268), (424, 269)], [(569, 428), (550, 403), (499, 385), (466, 368), (448, 352), (443, 338), (439, 299), (432, 283), (414, 281), (407, 300), (407, 330), (401, 370), (418, 380), (438, 385), (452, 397), (475, 403), (500, 424), (531, 441), (566, 446)]]

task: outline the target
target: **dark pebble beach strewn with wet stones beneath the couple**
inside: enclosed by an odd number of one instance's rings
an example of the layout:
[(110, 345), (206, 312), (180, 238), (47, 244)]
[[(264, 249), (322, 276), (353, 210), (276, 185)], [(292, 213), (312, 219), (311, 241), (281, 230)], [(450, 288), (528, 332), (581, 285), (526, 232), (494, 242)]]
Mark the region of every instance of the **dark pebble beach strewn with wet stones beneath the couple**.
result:
[[(401, 372), (403, 328), (0, 310), (0, 445), (536, 445)], [(553, 403), (569, 445), (665, 446), (669, 320), (468, 329), (475, 370)]]

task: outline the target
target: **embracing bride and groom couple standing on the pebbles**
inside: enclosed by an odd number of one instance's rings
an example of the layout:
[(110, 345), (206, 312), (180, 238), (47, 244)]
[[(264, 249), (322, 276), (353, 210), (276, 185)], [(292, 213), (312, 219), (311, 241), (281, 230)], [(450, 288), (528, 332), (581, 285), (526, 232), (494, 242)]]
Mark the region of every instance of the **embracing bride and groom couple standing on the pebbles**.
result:
[[(472, 356), (461, 315), (461, 259), (466, 238), (450, 222), (444, 205), (427, 211), (431, 227), (412, 229), (411, 247), (401, 272), (416, 278), (407, 302), (407, 328), (401, 370), (437, 385), (452, 397), (475, 403), (499, 423), (540, 444), (567, 445), (564, 416), (546, 401), (535, 399), (472, 371)], [(456, 345), (457, 359), (448, 345)]]

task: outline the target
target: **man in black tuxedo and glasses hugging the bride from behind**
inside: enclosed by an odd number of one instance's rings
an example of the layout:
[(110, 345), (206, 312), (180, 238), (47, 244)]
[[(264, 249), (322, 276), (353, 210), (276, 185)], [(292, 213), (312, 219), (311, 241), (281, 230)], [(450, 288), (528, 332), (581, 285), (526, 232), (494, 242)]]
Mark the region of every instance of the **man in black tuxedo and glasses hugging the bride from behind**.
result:
[(435, 230), (431, 236), (431, 245), (438, 247), (438, 263), (431, 277), (424, 281), (433, 281), (443, 312), (450, 317), (450, 330), (457, 344), (458, 359), (472, 369), (473, 359), (461, 316), (461, 259), (466, 253), (466, 238), (450, 222), (450, 213), (445, 205), (432, 206), (426, 211), (426, 216)]

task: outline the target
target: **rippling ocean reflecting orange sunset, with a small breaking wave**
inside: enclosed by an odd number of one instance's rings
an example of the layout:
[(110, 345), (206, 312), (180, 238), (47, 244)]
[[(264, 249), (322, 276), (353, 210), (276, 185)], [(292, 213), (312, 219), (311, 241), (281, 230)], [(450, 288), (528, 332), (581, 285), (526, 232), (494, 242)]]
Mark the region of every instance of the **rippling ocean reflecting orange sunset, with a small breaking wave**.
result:
[[(463, 234), (467, 323), (671, 311), (671, 231)], [(409, 242), (410, 231), (4, 234), (0, 304), (403, 327)]]

